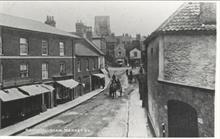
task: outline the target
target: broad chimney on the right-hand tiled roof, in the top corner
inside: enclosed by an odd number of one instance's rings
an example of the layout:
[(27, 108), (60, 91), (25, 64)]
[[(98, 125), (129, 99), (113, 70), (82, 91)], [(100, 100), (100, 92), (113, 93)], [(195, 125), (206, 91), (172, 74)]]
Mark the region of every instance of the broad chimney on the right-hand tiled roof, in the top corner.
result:
[(216, 4), (201, 2), (199, 18), (202, 24), (216, 24)]

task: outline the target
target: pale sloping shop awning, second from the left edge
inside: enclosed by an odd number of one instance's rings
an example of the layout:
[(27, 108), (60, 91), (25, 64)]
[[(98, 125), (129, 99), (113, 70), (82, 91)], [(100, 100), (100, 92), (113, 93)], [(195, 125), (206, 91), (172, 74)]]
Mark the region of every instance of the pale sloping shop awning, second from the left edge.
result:
[(19, 89), (28, 93), (30, 96), (35, 96), (35, 95), (40, 95), (40, 94), (50, 92), (49, 89), (41, 86), (40, 84), (21, 86), (19, 87)]

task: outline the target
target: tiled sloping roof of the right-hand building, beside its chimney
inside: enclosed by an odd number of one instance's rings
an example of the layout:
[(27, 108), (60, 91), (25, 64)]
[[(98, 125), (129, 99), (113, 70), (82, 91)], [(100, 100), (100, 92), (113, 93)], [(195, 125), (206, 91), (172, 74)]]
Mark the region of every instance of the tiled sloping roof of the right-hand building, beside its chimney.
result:
[(152, 39), (161, 32), (178, 31), (215, 31), (216, 24), (202, 24), (200, 21), (199, 2), (189, 2), (182, 4), (167, 20), (165, 20), (145, 41)]

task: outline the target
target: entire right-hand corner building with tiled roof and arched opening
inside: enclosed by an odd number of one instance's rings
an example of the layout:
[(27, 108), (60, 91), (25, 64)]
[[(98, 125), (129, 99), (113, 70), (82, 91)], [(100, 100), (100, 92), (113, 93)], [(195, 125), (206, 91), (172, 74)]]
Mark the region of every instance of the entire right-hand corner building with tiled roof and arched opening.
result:
[(145, 40), (142, 93), (155, 136), (214, 136), (215, 6), (185, 3)]

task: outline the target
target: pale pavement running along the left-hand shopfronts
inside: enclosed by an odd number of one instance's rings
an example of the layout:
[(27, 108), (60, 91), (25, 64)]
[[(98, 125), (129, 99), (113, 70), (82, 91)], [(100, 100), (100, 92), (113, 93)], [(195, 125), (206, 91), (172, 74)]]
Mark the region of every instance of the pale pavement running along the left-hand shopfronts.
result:
[(104, 91), (109, 85), (110, 79), (107, 79), (106, 86), (103, 89), (97, 89), (90, 93), (87, 93), (83, 96), (80, 96), (70, 102), (67, 102), (62, 105), (58, 105), (52, 109), (48, 109), (46, 112), (40, 113), (39, 115), (33, 116), (29, 119), (16, 123), (14, 125), (8, 126), (0, 130), (1, 136), (10, 136), (15, 135), (24, 131), (25, 129), (31, 128), (39, 123), (42, 123), (48, 119), (51, 119), (73, 107), (80, 105), (81, 103), (91, 99), (92, 97), (98, 95), (102, 91)]

